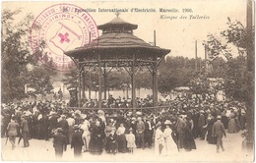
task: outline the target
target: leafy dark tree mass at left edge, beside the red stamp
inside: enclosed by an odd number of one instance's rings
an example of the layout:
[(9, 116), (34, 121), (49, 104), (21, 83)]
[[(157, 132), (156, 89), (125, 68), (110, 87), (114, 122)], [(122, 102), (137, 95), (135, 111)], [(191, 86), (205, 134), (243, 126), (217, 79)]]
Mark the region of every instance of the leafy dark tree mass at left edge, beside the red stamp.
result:
[[(43, 53), (43, 42), (38, 44), (35, 52), (30, 50), (30, 31), (32, 14), (15, 24), (15, 16), (21, 10), (4, 10), (2, 13), (2, 101), (11, 102), (36, 94), (49, 93), (52, 85), (49, 75), (54, 71), (46, 71), (38, 64), (38, 60), (47, 58)], [(50, 60), (44, 60), (51, 65)], [(49, 74), (50, 73), (50, 74)], [(34, 78), (34, 79), (33, 79)], [(27, 93), (25, 87), (34, 91)]]

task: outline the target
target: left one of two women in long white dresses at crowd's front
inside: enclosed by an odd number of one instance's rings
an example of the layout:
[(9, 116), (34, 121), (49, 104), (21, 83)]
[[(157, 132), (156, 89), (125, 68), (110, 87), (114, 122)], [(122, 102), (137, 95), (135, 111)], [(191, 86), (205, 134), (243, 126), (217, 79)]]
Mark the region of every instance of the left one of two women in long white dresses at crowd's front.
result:
[(155, 154), (158, 156), (164, 155), (164, 148), (165, 148), (165, 142), (164, 142), (164, 135), (161, 132), (161, 125), (160, 123), (156, 126), (156, 135), (155, 135)]

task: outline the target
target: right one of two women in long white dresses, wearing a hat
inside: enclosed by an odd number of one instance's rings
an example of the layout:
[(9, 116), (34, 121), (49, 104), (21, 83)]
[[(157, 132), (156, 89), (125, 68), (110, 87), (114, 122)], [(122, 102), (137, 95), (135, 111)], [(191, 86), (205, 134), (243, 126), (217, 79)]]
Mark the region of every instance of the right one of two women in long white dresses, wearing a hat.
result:
[(164, 122), (164, 125), (166, 126), (166, 128), (164, 129), (164, 132), (163, 132), (165, 146), (166, 146), (165, 149), (166, 149), (166, 154), (170, 155), (171, 152), (177, 150), (177, 147), (176, 147), (176, 144), (171, 136), (172, 131), (170, 129), (170, 125), (171, 125), (170, 121), (166, 120)]

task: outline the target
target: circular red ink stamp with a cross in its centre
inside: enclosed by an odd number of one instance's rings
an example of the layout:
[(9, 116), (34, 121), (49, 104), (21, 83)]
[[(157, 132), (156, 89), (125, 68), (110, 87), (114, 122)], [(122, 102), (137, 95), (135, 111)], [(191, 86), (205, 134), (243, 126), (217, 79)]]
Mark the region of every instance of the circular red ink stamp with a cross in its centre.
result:
[(56, 70), (67, 72), (75, 63), (64, 52), (88, 44), (96, 37), (96, 22), (88, 12), (73, 4), (57, 4), (43, 10), (32, 23), (31, 47), (35, 52), (44, 42), (47, 60), (52, 60)]

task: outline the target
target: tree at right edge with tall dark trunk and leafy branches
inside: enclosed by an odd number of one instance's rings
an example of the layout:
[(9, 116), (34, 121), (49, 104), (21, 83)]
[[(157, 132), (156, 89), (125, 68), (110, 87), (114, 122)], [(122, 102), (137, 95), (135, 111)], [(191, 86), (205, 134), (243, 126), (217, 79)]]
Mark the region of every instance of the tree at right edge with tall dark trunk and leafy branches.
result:
[[(227, 44), (236, 47), (239, 54), (236, 58), (229, 58), (225, 64), (226, 73), (224, 75), (224, 90), (225, 94), (232, 97), (234, 100), (239, 100), (246, 103), (247, 117), (247, 149), (253, 151), (254, 142), (254, 47), (255, 47), (255, 30), (251, 25), (252, 20), (249, 20), (252, 15), (251, 1), (247, 2), (247, 28), (240, 22), (231, 22), (227, 18), (228, 27), (221, 33), (226, 39)], [(217, 48), (218, 50), (218, 48)], [(220, 56), (221, 51), (217, 51), (217, 56)], [(210, 53), (212, 55), (212, 53)], [(233, 56), (233, 55), (232, 55)]]

